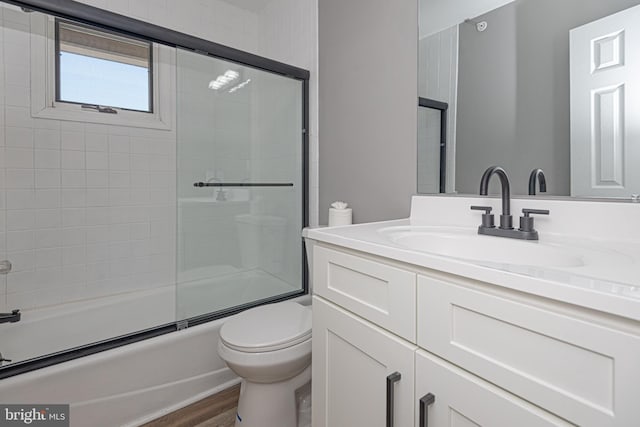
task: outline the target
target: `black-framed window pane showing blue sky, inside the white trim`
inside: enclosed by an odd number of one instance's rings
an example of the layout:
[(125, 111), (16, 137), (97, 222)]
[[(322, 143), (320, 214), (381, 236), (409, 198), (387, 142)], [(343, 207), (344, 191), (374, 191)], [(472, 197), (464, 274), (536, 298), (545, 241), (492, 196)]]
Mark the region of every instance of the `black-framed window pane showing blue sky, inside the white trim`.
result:
[(55, 26), (57, 102), (153, 112), (150, 42), (58, 19)]

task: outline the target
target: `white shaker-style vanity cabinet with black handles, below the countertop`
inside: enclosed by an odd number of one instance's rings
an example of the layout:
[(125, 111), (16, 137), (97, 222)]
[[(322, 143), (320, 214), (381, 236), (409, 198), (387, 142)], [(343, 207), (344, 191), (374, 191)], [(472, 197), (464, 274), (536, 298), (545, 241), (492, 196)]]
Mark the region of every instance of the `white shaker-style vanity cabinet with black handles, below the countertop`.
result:
[(638, 322), (337, 246), (313, 257), (315, 427), (390, 425), (395, 372), (396, 427), (640, 426)]

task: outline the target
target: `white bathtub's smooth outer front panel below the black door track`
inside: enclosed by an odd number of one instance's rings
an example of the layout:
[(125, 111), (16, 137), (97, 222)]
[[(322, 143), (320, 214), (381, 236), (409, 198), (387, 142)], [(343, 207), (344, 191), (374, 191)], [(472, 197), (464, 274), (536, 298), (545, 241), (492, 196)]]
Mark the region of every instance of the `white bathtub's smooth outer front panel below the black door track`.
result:
[(71, 425), (136, 426), (238, 382), (218, 357), (223, 321), (0, 381), (2, 403), (68, 403)]

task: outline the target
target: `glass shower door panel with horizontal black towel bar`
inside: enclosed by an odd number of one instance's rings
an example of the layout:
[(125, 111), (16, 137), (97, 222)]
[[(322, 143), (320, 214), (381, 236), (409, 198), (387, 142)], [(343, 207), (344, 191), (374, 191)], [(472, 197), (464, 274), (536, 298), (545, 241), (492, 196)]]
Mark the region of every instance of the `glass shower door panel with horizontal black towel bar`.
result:
[(303, 290), (303, 82), (178, 50), (177, 313)]

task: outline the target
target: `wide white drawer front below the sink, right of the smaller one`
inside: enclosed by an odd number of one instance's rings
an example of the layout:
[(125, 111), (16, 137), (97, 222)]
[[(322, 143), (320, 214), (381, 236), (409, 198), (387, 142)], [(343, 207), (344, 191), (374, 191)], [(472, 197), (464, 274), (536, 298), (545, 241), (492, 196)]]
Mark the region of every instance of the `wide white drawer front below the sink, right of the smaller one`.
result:
[(581, 426), (640, 419), (640, 339), (418, 277), (418, 345)]

